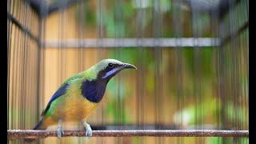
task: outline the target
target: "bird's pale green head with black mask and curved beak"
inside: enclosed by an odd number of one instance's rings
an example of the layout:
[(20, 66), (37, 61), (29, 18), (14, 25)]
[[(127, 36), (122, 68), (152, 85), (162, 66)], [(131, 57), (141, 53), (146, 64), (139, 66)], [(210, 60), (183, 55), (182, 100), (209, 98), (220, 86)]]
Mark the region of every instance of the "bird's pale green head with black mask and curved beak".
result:
[(100, 80), (106, 80), (107, 82), (110, 78), (118, 74), (119, 71), (124, 69), (137, 69), (136, 66), (129, 63), (120, 62), (116, 59), (103, 59), (102, 61), (96, 63), (92, 69), (96, 72), (96, 78)]

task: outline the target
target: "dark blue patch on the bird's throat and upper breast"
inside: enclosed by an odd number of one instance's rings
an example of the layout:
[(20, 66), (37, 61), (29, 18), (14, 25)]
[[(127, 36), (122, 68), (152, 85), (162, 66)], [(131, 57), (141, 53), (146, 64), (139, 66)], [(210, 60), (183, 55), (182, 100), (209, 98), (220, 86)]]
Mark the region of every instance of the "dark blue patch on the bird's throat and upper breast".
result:
[(90, 102), (100, 102), (106, 90), (107, 82), (84, 81), (82, 82), (82, 96)]

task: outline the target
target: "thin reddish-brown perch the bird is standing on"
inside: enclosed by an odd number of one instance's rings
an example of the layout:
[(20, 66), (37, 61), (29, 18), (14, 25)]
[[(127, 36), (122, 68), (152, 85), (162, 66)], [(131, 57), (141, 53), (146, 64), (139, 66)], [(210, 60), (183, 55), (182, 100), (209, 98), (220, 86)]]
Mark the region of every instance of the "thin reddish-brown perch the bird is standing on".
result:
[[(56, 137), (54, 130), (7, 130), (7, 137), (46, 138)], [(65, 130), (62, 137), (84, 137), (84, 130)], [(249, 130), (94, 130), (93, 137), (248, 137)]]

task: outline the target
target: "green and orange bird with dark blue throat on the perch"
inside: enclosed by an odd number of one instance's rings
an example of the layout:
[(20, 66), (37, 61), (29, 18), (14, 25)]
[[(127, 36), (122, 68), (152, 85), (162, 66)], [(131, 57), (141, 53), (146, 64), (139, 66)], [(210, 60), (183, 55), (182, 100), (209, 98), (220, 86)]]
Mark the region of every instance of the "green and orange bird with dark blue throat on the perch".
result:
[(64, 134), (62, 122), (82, 122), (86, 136), (91, 137), (92, 130), (86, 119), (101, 102), (110, 78), (119, 71), (130, 68), (137, 69), (129, 63), (104, 59), (88, 70), (66, 79), (50, 98), (34, 130), (46, 130), (48, 126), (58, 124), (57, 135), (61, 138)]

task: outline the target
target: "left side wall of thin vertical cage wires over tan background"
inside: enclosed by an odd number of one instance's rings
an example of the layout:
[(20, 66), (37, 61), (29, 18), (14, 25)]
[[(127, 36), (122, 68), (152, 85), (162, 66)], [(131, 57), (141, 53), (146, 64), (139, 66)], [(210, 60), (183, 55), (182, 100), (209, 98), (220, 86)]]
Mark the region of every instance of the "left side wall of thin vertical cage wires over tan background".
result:
[[(35, 107), (36, 98), (29, 95), (37, 95), (38, 92), (38, 54), (39, 54), (39, 17), (35, 10), (31, 9), (28, 1), (7, 1), (7, 128), (26, 128), (26, 122), (36, 122), (35, 115), (30, 118), (25, 114), (28, 107)], [(33, 22), (33, 23), (30, 23)], [(30, 47), (30, 49), (26, 49)], [(33, 55), (32, 57), (27, 57)], [(36, 71), (36, 72), (34, 72)], [(28, 89), (30, 87), (30, 90)], [(20, 95), (14, 98), (14, 95)], [(28, 102), (24, 105), (24, 102)], [(16, 108), (11, 107), (14, 104)], [(17, 110), (17, 111), (14, 111)], [(30, 114), (37, 114), (30, 109)], [(14, 119), (18, 118), (19, 122)]]

